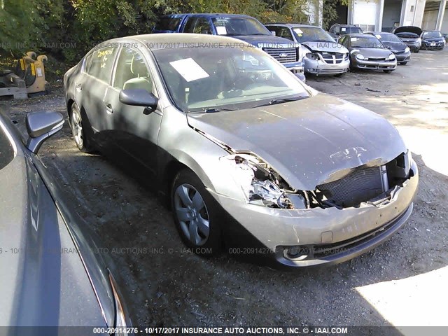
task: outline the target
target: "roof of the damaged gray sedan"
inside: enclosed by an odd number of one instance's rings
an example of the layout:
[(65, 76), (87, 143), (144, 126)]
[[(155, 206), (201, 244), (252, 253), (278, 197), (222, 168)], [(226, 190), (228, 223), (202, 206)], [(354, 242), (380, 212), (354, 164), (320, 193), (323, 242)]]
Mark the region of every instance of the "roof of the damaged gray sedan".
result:
[[(238, 45), (249, 45), (249, 43), (241, 41), (237, 38), (228, 36), (218, 36), (209, 34), (190, 34), (190, 33), (172, 33), (172, 34), (144, 34), (134, 36), (124, 36), (113, 38), (112, 40), (100, 43), (100, 45), (108, 45), (111, 42), (129, 42), (138, 41), (150, 48), (151, 50), (167, 49), (167, 48), (185, 48), (189, 45), (211, 45), (221, 43), (238, 43)], [(220, 44), (220, 45), (221, 45)]]

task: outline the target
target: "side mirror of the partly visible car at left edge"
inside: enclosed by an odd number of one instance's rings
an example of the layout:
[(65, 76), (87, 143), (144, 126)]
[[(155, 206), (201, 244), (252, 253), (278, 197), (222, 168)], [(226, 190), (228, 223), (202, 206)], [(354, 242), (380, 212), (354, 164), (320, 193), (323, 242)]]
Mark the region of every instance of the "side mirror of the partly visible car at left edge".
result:
[(26, 118), (28, 139), (27, 148), (36, 154), (43, 141), (62, 130), (64, 117), (55, 111), (28, 113)]

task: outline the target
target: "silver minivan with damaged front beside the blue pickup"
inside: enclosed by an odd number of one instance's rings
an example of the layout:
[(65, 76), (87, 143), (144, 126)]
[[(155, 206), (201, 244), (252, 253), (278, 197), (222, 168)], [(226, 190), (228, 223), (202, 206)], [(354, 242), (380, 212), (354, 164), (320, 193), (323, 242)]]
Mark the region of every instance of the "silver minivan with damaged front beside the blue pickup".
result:
[(349, 71), (349, 50), (322, 28), (294, 23), (269, 23), (265, 26), (276, 36), (302, 45), (305, 73), (335, 75)]

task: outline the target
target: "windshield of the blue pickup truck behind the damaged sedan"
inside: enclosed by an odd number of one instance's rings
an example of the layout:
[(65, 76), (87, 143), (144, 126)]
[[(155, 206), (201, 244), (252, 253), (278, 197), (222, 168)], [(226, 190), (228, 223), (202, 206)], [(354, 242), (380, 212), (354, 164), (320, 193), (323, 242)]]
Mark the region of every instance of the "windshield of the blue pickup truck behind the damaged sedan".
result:
[(265, 26), (253, 18), (214, 18), (212, 21), (218, 35), (271, 35)]

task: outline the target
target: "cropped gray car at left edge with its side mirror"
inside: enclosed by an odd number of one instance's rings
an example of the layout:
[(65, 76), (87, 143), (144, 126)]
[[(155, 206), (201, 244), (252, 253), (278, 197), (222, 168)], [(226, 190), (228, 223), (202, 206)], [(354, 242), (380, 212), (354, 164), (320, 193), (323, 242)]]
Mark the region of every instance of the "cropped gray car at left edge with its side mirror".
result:
[(0, 324), (131, 327), (116, 269), (36, 155), (64, 118), (29, 113), (26, 124), (25, 145), (0, 111)]

